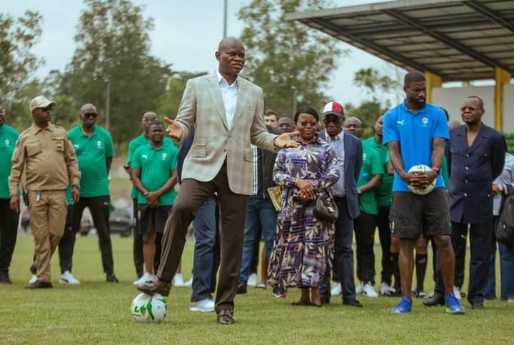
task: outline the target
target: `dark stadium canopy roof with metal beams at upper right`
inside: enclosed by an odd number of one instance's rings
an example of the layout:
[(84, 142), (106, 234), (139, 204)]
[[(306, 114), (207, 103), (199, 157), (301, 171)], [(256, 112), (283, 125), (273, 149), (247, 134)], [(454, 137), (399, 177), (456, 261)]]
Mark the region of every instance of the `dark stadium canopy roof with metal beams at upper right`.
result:
[(403, 69), (443, 81), (514, 74), (513, 0), (398, 0), (287, 14)]

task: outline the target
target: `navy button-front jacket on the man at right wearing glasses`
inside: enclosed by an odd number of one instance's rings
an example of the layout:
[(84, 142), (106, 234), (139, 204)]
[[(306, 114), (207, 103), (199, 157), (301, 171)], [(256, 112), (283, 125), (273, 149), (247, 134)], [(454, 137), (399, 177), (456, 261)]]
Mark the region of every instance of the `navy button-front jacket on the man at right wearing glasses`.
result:
[(482, 124), (473, 145), (468, 147), (466, 126), (455, 127), (446, 144), (450, 174), (450, 218), (465, 224), (491, 221), (493, 181), (505, 162), (503, 136)]

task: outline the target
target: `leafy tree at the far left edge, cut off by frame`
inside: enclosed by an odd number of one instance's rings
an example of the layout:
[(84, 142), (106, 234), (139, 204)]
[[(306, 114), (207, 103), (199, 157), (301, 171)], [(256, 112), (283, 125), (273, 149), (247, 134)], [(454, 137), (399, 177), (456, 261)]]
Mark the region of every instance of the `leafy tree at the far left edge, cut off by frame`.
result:
[(31, 52), (41, 36), (41, 21), (36, 11), (26, 11), (18, 19), (0, 13), (0, 101), (8, 109), (17, 101), (16, 91), (43, 63)]

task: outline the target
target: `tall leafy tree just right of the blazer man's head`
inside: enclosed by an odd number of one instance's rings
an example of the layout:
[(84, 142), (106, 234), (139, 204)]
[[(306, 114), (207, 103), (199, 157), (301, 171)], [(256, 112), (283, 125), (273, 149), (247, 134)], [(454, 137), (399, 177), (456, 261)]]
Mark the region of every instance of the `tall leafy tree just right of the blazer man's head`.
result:
[(320, 109), (328, 101), (323, 89), (343, 51), (336, 39), (286, 21), (288, 12), (321, 9), (325, 0), (253, 0), (238, 14), (244, 22), (244, 74), (263, 88), (265, 107), (291, 116), (298, 104)]

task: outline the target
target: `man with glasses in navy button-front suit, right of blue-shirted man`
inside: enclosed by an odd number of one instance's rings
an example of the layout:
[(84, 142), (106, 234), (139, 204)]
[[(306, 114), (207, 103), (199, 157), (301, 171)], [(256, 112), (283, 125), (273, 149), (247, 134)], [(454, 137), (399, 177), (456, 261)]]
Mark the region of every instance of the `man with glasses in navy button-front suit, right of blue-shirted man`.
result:
[[(483, 290), (488, 279), (489, 253), (493, 235), (493, 181), (505, 162), (503, 137), (482, 122), (483, 101), (469, 96), (460, 108), (465, 123), (455, 127), (446, 145), (450, 173), (450, 219), (452, 242), (466, 234), (470, 224), (470, 275), (468, 301), (473, 309), (483, 309)], [(439, 271), (439, 270), (438, 270)], [(440, 274), (434, 296), (427, 306), (441, 304), (444, 286)]]

